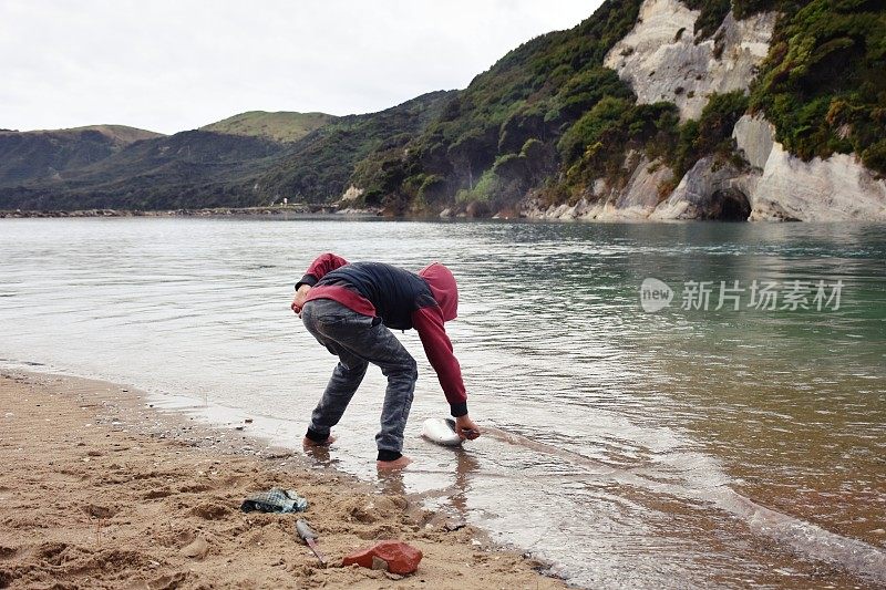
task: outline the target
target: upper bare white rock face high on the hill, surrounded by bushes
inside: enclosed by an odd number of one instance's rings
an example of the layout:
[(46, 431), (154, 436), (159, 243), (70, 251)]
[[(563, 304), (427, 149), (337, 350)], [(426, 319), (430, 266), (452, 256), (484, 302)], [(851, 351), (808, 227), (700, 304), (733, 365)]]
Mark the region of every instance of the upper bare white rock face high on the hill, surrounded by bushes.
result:
[(628, 82), (640, 103), (669, 101), (680, 118), (698, 118), (711, 93), (746, 90), (769, 53), (774, 12), (735, 20), (730, 12), (712, 38), (696, 43), (699, 11), (678, 0), (646, 0), (637, 24), (604, 65)]

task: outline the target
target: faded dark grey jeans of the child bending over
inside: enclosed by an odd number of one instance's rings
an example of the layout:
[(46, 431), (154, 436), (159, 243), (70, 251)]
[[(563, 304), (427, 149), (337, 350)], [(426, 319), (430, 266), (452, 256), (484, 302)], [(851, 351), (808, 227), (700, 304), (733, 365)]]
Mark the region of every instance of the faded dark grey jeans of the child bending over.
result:
[(320, 439), (329, 436), (330, 428), (339, 423), (363, 381), (367, 366), (372, 363), (388, 377), (381, 431), (375, 435), (379, 458), (391, 457), (391, 453), (394, 458), (399, 456), (419, 377), (415, 359), (379, 319), (357, 313), (331, 299), (305, 303), (301, 321), (320, 344), (339, 358), (323, 396), (311, 414), (309, 435)]

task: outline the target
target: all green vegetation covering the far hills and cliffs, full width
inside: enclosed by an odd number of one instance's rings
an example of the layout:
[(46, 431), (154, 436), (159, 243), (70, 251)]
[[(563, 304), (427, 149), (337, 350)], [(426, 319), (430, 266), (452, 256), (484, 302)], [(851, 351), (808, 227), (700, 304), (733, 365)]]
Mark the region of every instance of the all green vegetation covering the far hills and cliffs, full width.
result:
[[(736, 19), (779, 13), (749, 91), (710, 94), (696, 118), (681, 122), (672, 102), (638, 104), (631, 86), (602, 65), (641, 6), (607, 0), (575, 28), (508, 52), (464, 90), (380, 113), (250, 112), (169, 137), (97, 147), (56, 138), (27, 152), (18, 146), (38, 146), (22, 141), (27, 134), (0, 133), (0, 208), (320, 204), (357, 187), (349, 203), (394, 215), (453, 206), (483, 214), (527, 195), (575, 201), (597, 179), (619, 186), (631, 154), (673, 172), (659, 187), (667, 194), (701, 157), (741, 166), (731, 132), (745, 113), (763, 114), (803, 159), (855, 153), (886, 174), (882, 2), (681, 1), (699, 17), (677, 38), (692, 35), (693, 43), (717, 41), (730, 9)], [(28, 174), (14, 164), (23, 158), (32, 163)]]

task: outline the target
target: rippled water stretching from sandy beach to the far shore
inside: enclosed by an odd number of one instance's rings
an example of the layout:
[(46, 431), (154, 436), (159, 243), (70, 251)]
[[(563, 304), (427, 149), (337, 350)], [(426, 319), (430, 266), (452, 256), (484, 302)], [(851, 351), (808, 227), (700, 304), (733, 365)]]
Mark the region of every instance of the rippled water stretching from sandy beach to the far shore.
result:
[[(886, 583), (886, 232), (844, 225), (342, 219), (0, 221), (0, 358), (131, 383), (161, 405), (297, 444), (334, 359), (289, 311), (317, 253), (460, 282), (449, 331), (465, 451), (420, 362), (406, 453), (419, 494), (588, 587)], [(640, 284), (676, 294), (655, 313)], [(715, 310), (720, 281), (811, 281), (812, 309)], [(838, 280), (816, 310), (814, 286)], [(709, 309), (681, 309), (713, 281)], [(785, 288), (784, 283), (789, 287)], [(374, 479), (370, 371), (329, 456)]]

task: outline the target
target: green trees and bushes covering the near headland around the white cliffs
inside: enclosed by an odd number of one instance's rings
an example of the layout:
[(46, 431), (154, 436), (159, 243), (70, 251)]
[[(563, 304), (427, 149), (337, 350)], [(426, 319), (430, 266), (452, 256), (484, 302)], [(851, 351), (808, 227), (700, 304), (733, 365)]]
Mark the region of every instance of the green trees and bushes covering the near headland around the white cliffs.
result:
[(399, 152), (370, 155), (383, 165), (363, 166), (375, 176), (363, 172), (354, 184), (374, 183), (372, 204), (395, 211), (453, 201), (496, 210), (528, 192), (543, 204), (569, 203), (594, 179), (624, 184), (631, 151), (669, 166), (672, 183), (704, 156), (740, 165), (730, 136), (749, 111), (765, 114), (776, 138), (804, 159), (855, 152), (873, 170), (886, 172), (883, 7), (863, 0), (684, 3), (700, 11), (696, 42), (713, 35), (730, 8), (741, 19), (780, 12), (750, 96), (713, 93), (701, 116), (682, 124), (673, 103), (637, 104), (602, 59), (632, 28), (640, 2), (608, 1), (578, 27), (508, 53), (454, 96), (422, 135)]

